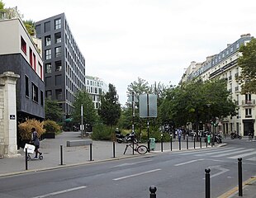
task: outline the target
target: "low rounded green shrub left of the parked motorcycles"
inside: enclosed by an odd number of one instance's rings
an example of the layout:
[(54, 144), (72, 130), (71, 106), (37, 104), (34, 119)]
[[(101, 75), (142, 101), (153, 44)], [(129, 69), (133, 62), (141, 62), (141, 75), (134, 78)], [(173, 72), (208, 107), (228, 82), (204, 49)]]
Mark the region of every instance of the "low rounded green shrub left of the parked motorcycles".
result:
[(96, 125), (93, 127), (91, 138), (97, 140), (111, 140), (113, 133), (113, 129), (107, 125)]

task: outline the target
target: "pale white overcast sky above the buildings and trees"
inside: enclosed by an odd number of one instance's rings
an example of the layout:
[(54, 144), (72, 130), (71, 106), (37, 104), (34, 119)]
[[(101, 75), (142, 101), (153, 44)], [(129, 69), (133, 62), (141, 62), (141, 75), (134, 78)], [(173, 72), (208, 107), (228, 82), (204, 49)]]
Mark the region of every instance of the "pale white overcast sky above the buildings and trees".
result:
[(116, 87), (177, 85), (184, 68), (218, 54), (240, 35), (256, 35), (255, 0), (2, 0), (25, 20), (65, 13), (85, 57), (86, 74)]

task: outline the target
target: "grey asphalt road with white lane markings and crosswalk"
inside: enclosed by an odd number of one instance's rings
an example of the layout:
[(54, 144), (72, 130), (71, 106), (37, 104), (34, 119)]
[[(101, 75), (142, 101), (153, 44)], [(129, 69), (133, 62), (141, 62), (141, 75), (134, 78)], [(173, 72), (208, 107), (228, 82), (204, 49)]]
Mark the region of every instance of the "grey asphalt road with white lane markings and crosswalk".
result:
[(243, 158), (243, 180), (256, 175), (255, 142), (229, 140), (221, 148), (157, 153), (0, 178), (2, 198), (205, 197), (205, 169), (211, 169), (211, 197), (237, 186), (237, 158)]

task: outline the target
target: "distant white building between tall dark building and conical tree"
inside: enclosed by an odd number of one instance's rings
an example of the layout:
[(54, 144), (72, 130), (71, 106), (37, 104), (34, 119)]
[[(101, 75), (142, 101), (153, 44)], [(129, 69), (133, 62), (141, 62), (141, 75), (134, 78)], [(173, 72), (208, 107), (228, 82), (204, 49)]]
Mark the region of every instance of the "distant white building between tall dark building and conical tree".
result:
[(103, 82), (101, 78), (86, 76), (86, 91), (92, 97), (94, 108), (101, 106), (102, 94), (108, 92), (107, 83)]

